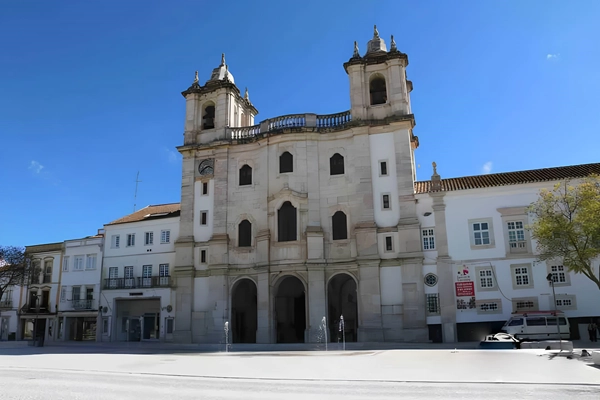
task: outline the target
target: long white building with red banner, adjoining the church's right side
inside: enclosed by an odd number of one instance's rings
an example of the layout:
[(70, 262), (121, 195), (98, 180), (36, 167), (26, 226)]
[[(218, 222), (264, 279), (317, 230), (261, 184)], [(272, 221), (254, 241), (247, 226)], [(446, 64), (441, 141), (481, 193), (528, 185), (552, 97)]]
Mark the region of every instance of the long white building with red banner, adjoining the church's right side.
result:
[(434, 167), (432, 180), (416, 183), (432, 339), (479, 340), (513, 312), (555, 309), (570, 318), (572, 337), (586, 336), (600, 290), (561, 260), (536, 260), (526, 209), (541, 189), (593, 173), (600, 164), (440, 179)]

